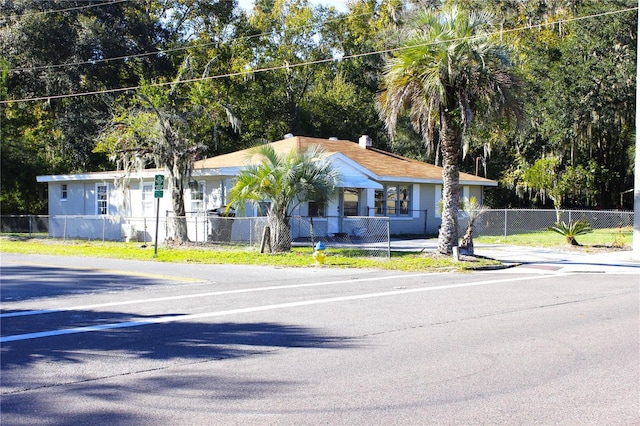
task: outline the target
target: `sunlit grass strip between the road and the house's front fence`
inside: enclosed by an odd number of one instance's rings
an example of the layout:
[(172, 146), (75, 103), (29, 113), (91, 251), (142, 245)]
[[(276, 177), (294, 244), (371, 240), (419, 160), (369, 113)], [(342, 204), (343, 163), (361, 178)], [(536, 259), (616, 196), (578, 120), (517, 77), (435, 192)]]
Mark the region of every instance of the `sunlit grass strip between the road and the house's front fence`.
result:
[[(158, 247), (154, 257), (153, 245), (141, 247), (141, 243), (60, 241), (5, 235), (0, 238), (0, 252), (25, 254), (51, 254), (61, 256), (89, 256), (114, 259), (135, 259), (157, 262), (210, 263), (234, 265), (271, 265), (286, 267), (315, 267), (312, 249), (294, 247), (290, 253), (261, 254), (247, 247), (191, 246)], [(393, 252), (391, 259), (367, 257), (359, 250), (327, 250), (322, 267), (375, 268), (402, 271), (467, 270), (496, 265), (498, 262), (484, 259), (455, 261), (434, 253)]]

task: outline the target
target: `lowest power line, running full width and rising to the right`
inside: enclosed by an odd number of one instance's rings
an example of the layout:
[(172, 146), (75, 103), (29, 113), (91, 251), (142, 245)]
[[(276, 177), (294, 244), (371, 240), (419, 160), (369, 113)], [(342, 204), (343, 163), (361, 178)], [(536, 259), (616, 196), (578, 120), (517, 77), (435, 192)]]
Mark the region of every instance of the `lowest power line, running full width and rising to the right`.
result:
[[(597, 13), (597, 14), (593, 14), (593, 15), (581, 16), (581, 17), (577, 17), (577, 18), (567, 18), (567, 19), (561, 19), (561, 20), (553, 21), (553, 22), (546, 22), (546, 23), (535, 24), (535, 25), (527, 25), (527, 26), (524, 26), (524, 27), (513, 28), (513, 29), (508, 29), (508, 30), (500, 30), (500, 31), (496, 31), (494, 33), (490, 33), (488, 35), (489, 36), (497, 36), (497, 35), (505, 34), (505, 33), (513, 33), (513, 32), (531, 30), (531, 29), (536, 29), (536, 28), (539, 29), (539, 28), (548, 27), (548, 26), (557, 25), (557, 24), (569, 23), (569, 22), (574, 22), (574, 21), (582, 21), (582, 20), (586, 20), (586, 19), (598, 18), (598, 17), (602, 17), (602, 16), (614, 15), (614, 14), (618, 14), (618, 13), (626, 13), (626, 12), (637, 11), (637, 10), (638, 10), (638, 7), (633, 7), (633, 8), (622, 9), (622, 10), (617, 10), (617, 11), (602, 12), (602, 13)], [(283, 69), (298, 68), (298, 67), (307, 66), (307, 65), (319, 65), (319, 64), (325, 64), (325, 63), (330, 63), (330, 62), (338, 62), (338, 61), (342, 61), (342, 60), (356, 59), (356, 58), (361, 58), (361, 57), (366, 57), (366, 56), (393, 53), (393, 52), (407, 50), (407, 49), (415, 49), (416, 47), (436, 45), (436, 44), (439, 44), (439, 43), (451, 43), (451, 42), (454, 42), (454, 41), (460, 41), (460, 40), (465, 40), (465, 39), (470, 39), (470, 38), (479, 38), (479, 37), (485, 37), (485, 36), (486, 35), (475, 36), (475, 37), (463, 37), (463, 38), (454, 39), (454, 40), (446, 40), (446, 41), (440, 41), (440, 42), (425, 43), (423, 45), (412, 45), (410, 47), (396, 47), (396, 48), (390, 48), (390, 49), (376, 50), (376, 51), (372, 51), (372, 52), (358, 53), (358, 54), (353, 54), (353, 55), (344, 55), (341, 58), (318, 59), (318, 60), (314, 60), (314, 61), (300, 62), (300, 63), (297, 63), (297, 64), (284, 64), (284, 65), (278, 65), (278, 66), (272, 66), (272, 67), (249, 69), (249, 70), (246, 70), (246, 71), (238, 71), (238, 72), (233, 72), (233, 73), (225, 73), (225, 74), (218, 74), (218, 75), (213, 75), (213, 76), (191, 78), (191, 79), (186, 79), (186, 80), (169, 81), (169, 82), (163, 82), (163, 83), (153, 83), (153, 84), (149, 84), (149, 86), (150, 87), (163, 87), (163, 86), (169, 86), (169, 85), (173, 85), (173, 84), (196, 83), (196, 82), (200, 82), (200, 81), (208, 81), (208, 80), (216, 80), (216, 79), (220, 79), (220, 78), (237, 77), (237, 76), (255, 74), (255, 73), (260, 73), (260, 72), (268, 72), (268, 71), (277, 71), (277, 70), (283, 70)], [(51, 100), (51, 99), (64, 99), (64, 98), (74, 98), (74, 97), (100, 95), (100, 94), (122, 93), (122, 92), (127, 92), (127, 91), (135, 91), (137, 89), (140, 89), (141, 87), (142, 86), (138, 85), (138, 86), (115, 88), (115, 89), (96, 90), (96, 91), (90, 91), (90, 92), (67, 93), (67, 94), (62, 94), (62, 95), (38, 96), (38, 97), (33, 97), (33, 98), (5, 100), (5, 101), (0, 101), (0, 105), (1, 104), (17, 103), (17, 102), (35, 102), (35, 101), (44, 101), (44, 100)]]

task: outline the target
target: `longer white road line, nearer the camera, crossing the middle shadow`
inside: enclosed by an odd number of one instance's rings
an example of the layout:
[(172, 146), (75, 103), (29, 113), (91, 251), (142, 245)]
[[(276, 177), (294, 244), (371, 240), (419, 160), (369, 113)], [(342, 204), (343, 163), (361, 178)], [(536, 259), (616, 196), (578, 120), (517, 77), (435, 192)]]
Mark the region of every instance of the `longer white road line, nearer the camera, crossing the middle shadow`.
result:
[(0, 337), (0, 343), (15, 342), (20, 340), (39, 339), (43, 337), (62, 336), (67, 334), (79, 334), (79, 333), (90, 333), (94, 331), (114, 330), (119, 328), (141, 327), (144, 325), (164, 324), (168, 322), (190, 321), (190, 320), (213, 318), (213, 317), (220, 317), (220, 316), (226, 316), (226, 315), (269, 311), (274, 309), (296, 308), (300, 306), (337, 303), (337, 302), (345, 302), (349, 300), (371, 299), (375, 297), (397, 296), (397, 295), (403, 295), (403, 294), (421, 293), (421, 292), (436, 291), (436, 290), (448, 290), (448, 289), (464, 288), (464, 287), (477, 287), (477, 286), (484, 286), (484, 285), (490, 285), (490, 284), (501, 284), (501, 283), (525, 281), (525, 280), (532, 281), (532, 280), (540, 280), (540, 279), (545, 279), (550, 277), (557, 277), (559, 275), (567, 276), (567, 275), (573, 275), (573, 274), (553, 274), (553, 275), (544, 275), (544, 276), (538, 276), (538, 277), (518, 277), (518, 278), (507, 278), (507, 279), (498, 279), (498, 280), (477, 281), (473, 283), (449, 284), (449, 285), (442, 285), (437, 287), (421, 287), (421, 288), (414, 288), (414, 289), (407, 289), (407, 290), (394, 290), (394, 291), (385, 291), (385, 292), (379, 292), (379, 293), (358, 294), (353, 296), (341, 296), (341, 297), (330, 297), (326, 299), (304, 300), (300, 302), (278, 303), (275, 305), (254, 306), (251, 308), (230, 309), (226, 311), (205, 312), (201, 314), (164, 316), (164, 317), (158, 317), (152, 320), (144, 320), (144, 321), (127, 321), (127, 322), (101, 324), (101, 325), (88, 326), (88, 327), (77, 327), (77, 328), (68, 328), (68, 329), (61, 329), (61, 330), (42, 331), (42, 332), (36, 332), (36, 333), (16, 334), (13, 336)]

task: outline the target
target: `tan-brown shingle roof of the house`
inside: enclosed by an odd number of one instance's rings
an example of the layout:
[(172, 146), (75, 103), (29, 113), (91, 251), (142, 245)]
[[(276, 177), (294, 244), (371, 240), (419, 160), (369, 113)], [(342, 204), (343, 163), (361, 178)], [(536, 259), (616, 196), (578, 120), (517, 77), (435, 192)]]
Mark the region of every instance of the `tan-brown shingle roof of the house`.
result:
[[(390, 152), (375, 148), (365, 149), (360, 144), (348, 140), (330, 140), (294, 136), (281, 141), (272, 142), (274, 150), (278, 153), (287, 153), (291, 150), (304, 150), (311, 145), (320, 145), (329, 153), (340, 153), (352, 161), (369, 170), (374, 179), (393, 180), (402, 179), (429, 179), (441, 180), (442, 167), (422, 161), (412, 160)], [(250, 149), (219, 155), (205, 160), (197, 161), (194, 169), (219, 169), (226, 167), (241, 167), (250, 162)], [(473, 181), (479, 185), (495, 186), (496, 182), (468, 173), (460, 173), (460, 181)]]

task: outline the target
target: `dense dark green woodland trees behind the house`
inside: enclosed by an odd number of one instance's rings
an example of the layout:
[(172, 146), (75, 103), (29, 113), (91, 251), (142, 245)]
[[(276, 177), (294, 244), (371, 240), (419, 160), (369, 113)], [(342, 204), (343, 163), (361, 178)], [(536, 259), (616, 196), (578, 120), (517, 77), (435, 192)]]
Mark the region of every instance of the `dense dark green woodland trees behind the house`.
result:
[[(393, 139), (376, 111), (386, 59), (408, 40), (406, 12), (417, 5), (435, 16), (454, 7), (491, 12), (493, 42), (511, 50), (522, 120), (485, 119), (500, 112), (489, 95), (502, 93), (486, 81), (470, 87), (468, 98), (451, 97), (445, 86), (432, 93), (452, 101), (443, 105), (457, 109), (456, 126), (466, 123), (459, 169), (475, 173), (478, 164), (500, 182), (489, 204), (551, 206), (526, 190), (524, 178), (537, 161), (556, 158), (559, 177), (584, 183), (563, 191), (564, 207), (631, 206), (621, 195), (633, 187), (635, 0), (354, 0), (344, 12), (306, 0), (258, 0), (250, 10), (236, 1), (14, 0), (0, 4), (2, 212), (46, 213), (46, 187), (36, 175), (113, 168), (95, 149), (101, 132), (124, 111), (134, 120), (128, 107), (141, 99), (134, 93), (168, 92), (187, 59), (176, 98), (155, 105), (167, 112), (177, 102), (180, 114), (192, 114), (189, 139), (203, 156), (286, 133), (368, 134), (376, 147), (440, 164), (440, 123), (427, 110), (387, 122)], [(469, 34), (458, 36), (455, 45), (471, 44)]]

